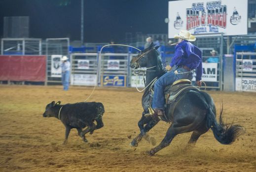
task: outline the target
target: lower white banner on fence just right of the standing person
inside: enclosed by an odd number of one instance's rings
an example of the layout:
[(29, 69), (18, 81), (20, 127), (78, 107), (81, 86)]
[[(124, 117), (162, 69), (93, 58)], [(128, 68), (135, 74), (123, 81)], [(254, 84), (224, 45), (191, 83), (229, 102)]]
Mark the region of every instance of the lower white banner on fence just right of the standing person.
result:
[(92, 74), (72, 74), (71, 85), (74, 86), (95, 86), (97, 75)]

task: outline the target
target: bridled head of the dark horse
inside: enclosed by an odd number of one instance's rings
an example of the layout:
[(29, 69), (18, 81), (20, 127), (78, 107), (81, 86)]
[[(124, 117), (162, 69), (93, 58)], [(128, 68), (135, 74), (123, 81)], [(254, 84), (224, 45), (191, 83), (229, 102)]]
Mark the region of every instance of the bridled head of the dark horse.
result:
[(154, 47), (153, 43), (151, 43), (151, 45), (143, 50), (140, 54), (138, 54), (137, 57), (132, 58), (132, 60), (130, 61), (130, 67), (137, 69), (139, 67), (157, 66), (159, 62), (161, 63), (161, 58), (159, 56), (157, 48), (158, 47)]

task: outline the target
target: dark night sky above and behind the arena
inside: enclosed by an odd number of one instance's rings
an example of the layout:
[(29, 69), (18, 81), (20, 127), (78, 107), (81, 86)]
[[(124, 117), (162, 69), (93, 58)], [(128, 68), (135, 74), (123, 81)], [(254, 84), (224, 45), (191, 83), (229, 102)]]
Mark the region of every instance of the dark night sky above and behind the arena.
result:
[[(121, 41), (125, 32), (167, 33), (170, 0), (84, 0), (84, 41)], [(81, 0), (0, 0), (4, 16), (29, 16), (30, 37), (80, 39)]]

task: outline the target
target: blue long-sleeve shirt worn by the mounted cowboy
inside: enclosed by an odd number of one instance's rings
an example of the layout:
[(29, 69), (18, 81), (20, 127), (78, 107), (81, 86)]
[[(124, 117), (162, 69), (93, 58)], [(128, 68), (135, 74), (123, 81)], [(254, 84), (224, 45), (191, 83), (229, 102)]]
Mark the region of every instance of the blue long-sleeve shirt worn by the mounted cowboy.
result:
[(196, 70), (196, 81), (202, 79), (202, 52), (195, 45), (183, 40), (175, 47), (175, 54), (170, 63), (170, 66), (187, 66), (191, 70)]

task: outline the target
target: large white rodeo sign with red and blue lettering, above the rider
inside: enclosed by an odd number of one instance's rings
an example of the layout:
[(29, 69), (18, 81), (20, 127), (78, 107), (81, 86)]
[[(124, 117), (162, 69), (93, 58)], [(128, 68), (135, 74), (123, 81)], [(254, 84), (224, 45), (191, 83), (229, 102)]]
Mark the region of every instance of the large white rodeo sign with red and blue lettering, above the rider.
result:
[(169, 1), (169, 38), (188, 30), (192, 34), (247, 34), (248, 0)]

